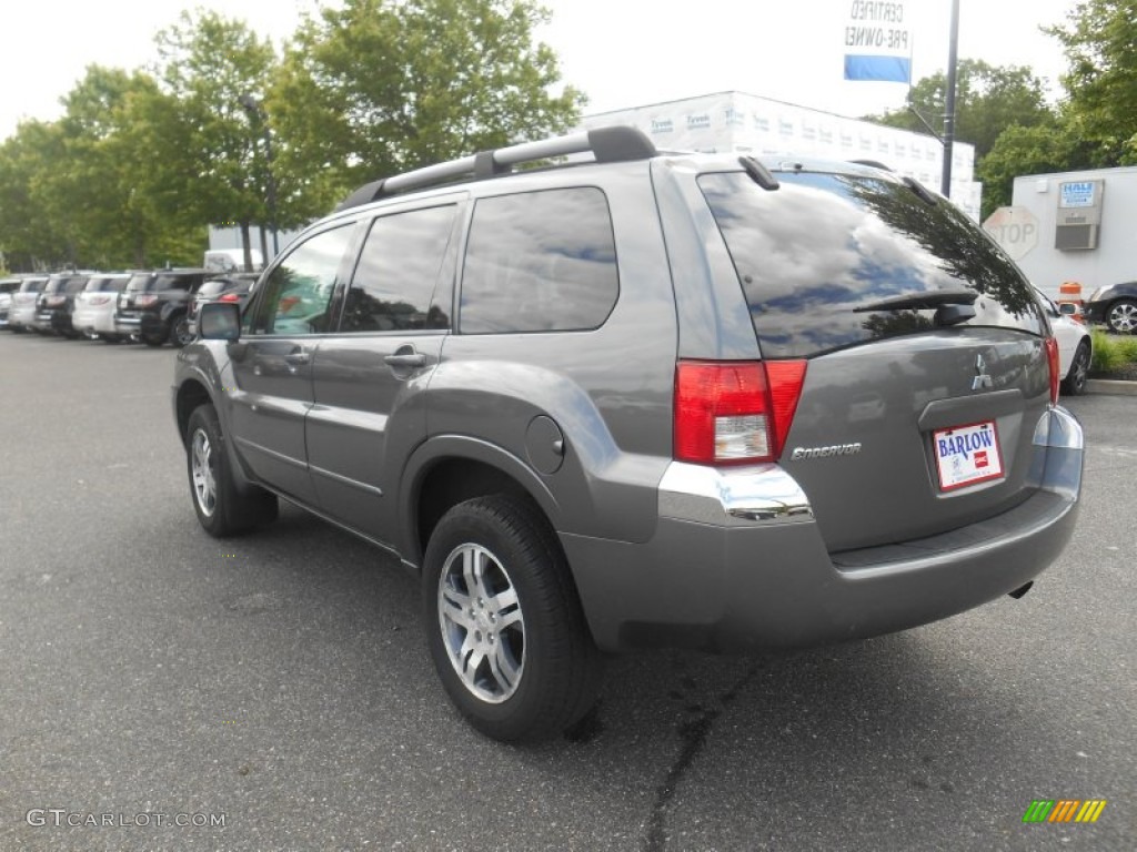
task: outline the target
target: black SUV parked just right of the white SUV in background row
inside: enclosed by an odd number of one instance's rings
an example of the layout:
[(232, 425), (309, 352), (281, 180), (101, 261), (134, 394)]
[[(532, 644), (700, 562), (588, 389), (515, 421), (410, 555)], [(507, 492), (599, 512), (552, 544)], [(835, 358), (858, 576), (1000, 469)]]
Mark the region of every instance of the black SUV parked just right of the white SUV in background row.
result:
[(148, 346), (167, 341), (184, 346), (193, 340), (189, 307), (206, 279), (205, 269), (161, 269), (133, 273), (118, 294), (115, 331)]

